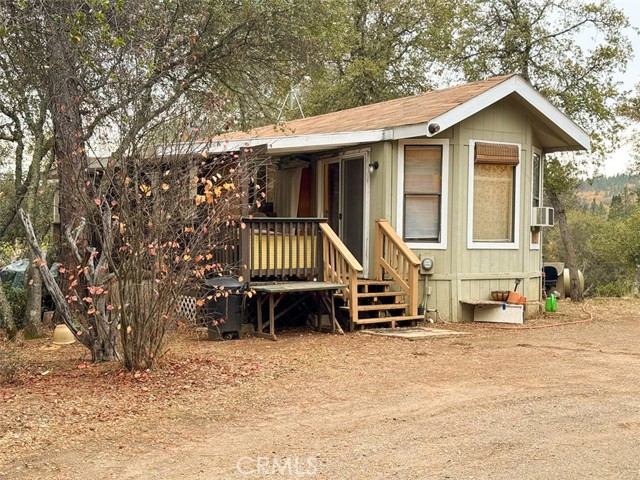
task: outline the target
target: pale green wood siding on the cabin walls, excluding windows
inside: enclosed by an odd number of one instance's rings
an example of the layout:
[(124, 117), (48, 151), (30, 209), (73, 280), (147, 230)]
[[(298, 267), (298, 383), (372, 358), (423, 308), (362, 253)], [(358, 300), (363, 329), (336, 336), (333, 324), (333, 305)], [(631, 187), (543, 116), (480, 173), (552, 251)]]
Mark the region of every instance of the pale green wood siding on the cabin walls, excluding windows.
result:
[[(437, 138), (449, 138), (448, 248), (415, 250), (434, 258), (428, 284), (429, 308), (438, 308), (449, 321), (471, 320), (471, 309), (463, 309), (460, 299), (488, 299), (491, 290), (513, 289), (513, 279), (524, 278), (518, 288), (529, 302), (540, 300), (541, 251), (530, 249), (531, 155), (533, 140), (531, 119), (510, 100), (502, 100), (484, 111), (442, 132)], [(469, 140), (517, 143), (520, 156), (519, 248), (517, 250), (468, 249), (467, 218), (469, 191)], [(538, 146), (538, 145), (535, 145)], [(398, 228), (397, 192), (398, 142), (385, 142), (372, 148), (371, 159), (380, 169), (371, 177), (371, 252), (375, 219), (385, 216)], [(390, 155), (390, 157), (389, 157)], [(392, 168), (387, 169), (390, 165)], [(383, 175), (380, 175), (380, 174)], [(393, 192), (391, 196), (386, 192)], [(384, 204), (382, 204), (384, 202)], [(384, 213), (384, 215), (382, 215)], [(421, 285), (422, 295), (422, 285)], [(529, 311), (535, 310), (533, 306)]]

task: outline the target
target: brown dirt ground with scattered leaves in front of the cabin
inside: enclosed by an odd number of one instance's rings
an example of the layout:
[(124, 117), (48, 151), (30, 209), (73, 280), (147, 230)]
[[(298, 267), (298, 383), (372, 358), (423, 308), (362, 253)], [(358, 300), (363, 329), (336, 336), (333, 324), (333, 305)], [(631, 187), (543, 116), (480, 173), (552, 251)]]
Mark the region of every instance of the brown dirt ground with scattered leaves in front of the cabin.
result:
[(559, 312), (423, 341), (186, 332), (141, 374), (4, 342), (26, 366), (0, 478), (640, 478), (640, 300)]

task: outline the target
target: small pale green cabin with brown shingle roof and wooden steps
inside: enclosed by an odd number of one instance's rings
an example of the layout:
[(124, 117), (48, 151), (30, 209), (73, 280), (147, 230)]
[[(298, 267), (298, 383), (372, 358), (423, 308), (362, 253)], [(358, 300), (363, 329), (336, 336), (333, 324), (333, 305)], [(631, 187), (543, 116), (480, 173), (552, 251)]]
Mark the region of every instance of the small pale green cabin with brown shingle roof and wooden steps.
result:
[[(471, 320), (468, 301), (489, 300), (516, 279), (533, 311), (544, 227), (553, 223), (544, 156), (587, 150), (590, 141), (508, 75), (230, 133), (203, 148), (259, 145), (276, 165), (260, 221), (322, 219), (325, 244), (337, 245), (319, 252), (321, 275), (351, 285), (353, 325), (415, 319), (421, 305), (448, 321)], [(254, 257), (260, 241), (250, 240)], [(397, 292), (402, 315), (367, 315), (374, 308), (363, 299), (376, 292)]]

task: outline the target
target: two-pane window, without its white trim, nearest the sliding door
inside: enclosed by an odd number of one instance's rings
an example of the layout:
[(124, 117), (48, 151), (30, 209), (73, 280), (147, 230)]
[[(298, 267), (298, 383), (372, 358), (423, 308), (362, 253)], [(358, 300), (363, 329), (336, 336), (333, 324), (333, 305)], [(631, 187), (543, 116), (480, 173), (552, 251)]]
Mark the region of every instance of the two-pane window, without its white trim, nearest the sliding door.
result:
[(442, 146), (404, 146), (403, 236), (409, 242), (441, 237)]

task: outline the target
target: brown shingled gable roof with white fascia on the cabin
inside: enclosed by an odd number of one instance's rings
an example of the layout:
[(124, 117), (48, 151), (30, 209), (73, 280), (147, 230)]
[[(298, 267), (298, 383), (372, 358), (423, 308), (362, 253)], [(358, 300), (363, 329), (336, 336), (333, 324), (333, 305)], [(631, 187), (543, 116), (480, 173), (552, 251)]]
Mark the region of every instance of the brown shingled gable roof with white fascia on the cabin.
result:
[(432, 137), (508, 96), (516, 97), (539, 120), (545, 151), (590, 148), (589, 136), (581, 127), (515, 74), (301, 118), (283, 125), (230, 132), (202, 142), (200, 148), (215, 153), (266, 144), (269, 152), (284, 154)]

